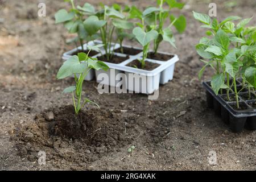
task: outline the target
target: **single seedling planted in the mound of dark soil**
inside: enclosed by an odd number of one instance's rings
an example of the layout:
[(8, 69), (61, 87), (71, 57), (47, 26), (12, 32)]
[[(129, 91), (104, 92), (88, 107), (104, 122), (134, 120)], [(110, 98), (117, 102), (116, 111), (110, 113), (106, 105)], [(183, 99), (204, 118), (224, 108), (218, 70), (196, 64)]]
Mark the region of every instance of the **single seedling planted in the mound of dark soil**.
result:
[(95, 102), (90, 101), (88, 98), (84, 98), (84, 100), (82, 100), (82, 84), (90, 69), (104, 69), (105, 71), (108, 71), (108, 65), (102, 61), (98, 61), (96, 58), (89, 57), (90, 51), (98, 51), (98, 49), (100, 49), (102, 46), (102, 44), (97, 46), (88, 46), (88, 53), (80, 52), (77, 56), (72, 56), (63, 63), (59, 69), (59, 72), (57, 73), (58, 79), (63, 79), (74, 75), (76, 85), (65, 88), (63, 93), (72, 93), (76, 114), (79, 114), (79, 111), (86, 103), (92, 103), (98, 106)]

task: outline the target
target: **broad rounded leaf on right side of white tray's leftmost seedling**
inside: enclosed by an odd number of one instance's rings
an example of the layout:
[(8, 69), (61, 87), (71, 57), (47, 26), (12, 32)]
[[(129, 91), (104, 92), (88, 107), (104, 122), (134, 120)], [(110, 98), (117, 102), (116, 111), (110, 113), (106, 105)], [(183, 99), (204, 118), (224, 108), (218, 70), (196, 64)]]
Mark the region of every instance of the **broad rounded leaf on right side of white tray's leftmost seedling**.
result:
[(96, 34), (106, 24), (105, 20), (99, 20), (97, 16), (89, 16), (84, 21), (85, 31), (90, 35)]

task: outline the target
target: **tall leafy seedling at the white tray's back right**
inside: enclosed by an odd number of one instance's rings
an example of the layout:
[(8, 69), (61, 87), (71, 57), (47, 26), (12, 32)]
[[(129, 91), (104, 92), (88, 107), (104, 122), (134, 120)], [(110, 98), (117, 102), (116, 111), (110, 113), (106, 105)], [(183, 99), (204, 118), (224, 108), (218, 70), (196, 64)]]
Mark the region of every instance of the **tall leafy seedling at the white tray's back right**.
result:
[[(164, 3), (167, 3), (169, 9), (163, 9)], [(146, 25), (147, 31), (156, 30), (158, 32), (159, 36), (154, 40), (154, 53), (158, 52), (159, 44), (163, 40), (176, 48), (174, 34), (171, 30), (172, 26), (175, 26), (179, 33), (184, 32), (186, 28), (185, 16), (180, 15), (179, 18), (175, 18), (170, 12), (173, 8), (183, 9), (184, 3), (178, 3), (176, 0), (158, 0), (157, 4), (158, 7), (148, 7), (138, 17), (142, 20), (141, 26), (144, 27)], [(167, 19), (170, 19), (171, 24), (168, 27), (164, 27)]]

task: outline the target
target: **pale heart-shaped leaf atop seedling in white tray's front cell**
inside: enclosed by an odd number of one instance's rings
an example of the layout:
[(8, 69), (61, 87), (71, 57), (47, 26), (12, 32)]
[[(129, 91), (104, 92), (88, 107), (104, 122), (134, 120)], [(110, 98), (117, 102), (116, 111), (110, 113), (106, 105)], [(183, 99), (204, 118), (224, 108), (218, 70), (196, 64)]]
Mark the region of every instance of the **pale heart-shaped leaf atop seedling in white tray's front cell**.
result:
[(148, 43), (150, 43), (152, 40), (155, 40), (158, 38), (158, 32), (155, 30), (151, 30), (149, 32), (144, 32), (142, 28), (135, 27), (133, 29), (133, 34), (135, 35), (135, 38), (138, 40), (138, 42), (144, 47)]

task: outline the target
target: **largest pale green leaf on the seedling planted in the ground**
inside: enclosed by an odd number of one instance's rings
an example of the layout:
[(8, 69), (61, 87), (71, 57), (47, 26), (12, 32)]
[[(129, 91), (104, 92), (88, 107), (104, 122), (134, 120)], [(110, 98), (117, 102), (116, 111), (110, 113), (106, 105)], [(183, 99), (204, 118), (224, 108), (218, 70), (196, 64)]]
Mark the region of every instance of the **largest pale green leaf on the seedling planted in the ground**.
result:
[(80, 63), (78, 56), (72, 56), (60, 67), (59, 72), (57, 73), (57, 78), (63, 79), (76, 73), (82, 73), (86, 68), (87, 64)]

